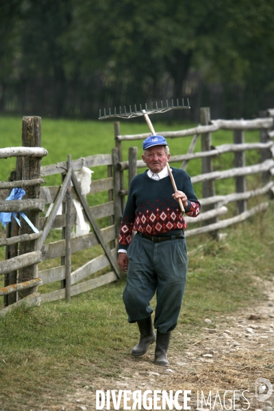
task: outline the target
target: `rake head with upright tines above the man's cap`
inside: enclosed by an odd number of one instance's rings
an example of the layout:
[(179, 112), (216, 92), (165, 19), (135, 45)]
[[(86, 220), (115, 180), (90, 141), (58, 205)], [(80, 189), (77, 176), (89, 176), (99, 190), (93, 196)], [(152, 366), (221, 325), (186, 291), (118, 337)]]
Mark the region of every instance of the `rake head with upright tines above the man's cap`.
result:
[[(147, 114), (156, 114), (156, 113), (165, 113), (169, 110), (174, 110), (177, 108), (190, 108), (189, 101), (187, 99), (187, 104), (184, 104), (184, 99), (182, 99), (182, 105), (179, 105), (179, 100), (177, 99), (177, 105), (174, 105), (173, 100), (171, 100), (171, 105), (169, 105), (169, 101), (166, 100), (166, 106), (164, 107), (162, 101), (160, 107), (158, 107), (158, 103), (156, 101), (155, 108), (153, 108), (153, 103), (151, 103), (151, 109), (147, 109), (147, 104), (145, 104), (145, 112)], [(101, 110), (99, 112), (99, 120), (102, 119), (109, 119), (110, 117), (121, 117), (122, 119), (132, 119), (132, 117), (143, 116), (144, 110), (142, 110), (142, 105), (140, 104), (140, 111), (137, 111), (136, 105), (134, 105), (134, 110), (132, 110), (132, 106), (129, 105), (129, 112), (127, 112), (124, 106), (124, 112), (122, 112), (121, 107), (119, 108), (119, 112), (116, 112), (116, 108), (114, 108), (114, 113), (111, 113), (109, 109), (109, 114), (106, 114), (105, 109), (103, 110), (103, 116), (101, 116)]]

